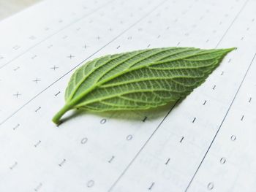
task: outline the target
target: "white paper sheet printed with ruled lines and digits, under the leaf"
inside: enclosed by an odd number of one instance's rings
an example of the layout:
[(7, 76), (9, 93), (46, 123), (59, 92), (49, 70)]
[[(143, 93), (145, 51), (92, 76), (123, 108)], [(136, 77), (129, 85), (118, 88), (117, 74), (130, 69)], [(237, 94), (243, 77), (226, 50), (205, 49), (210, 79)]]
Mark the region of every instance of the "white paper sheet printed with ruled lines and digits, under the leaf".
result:
[[(0, 23), (0, 191), (256, 191), (256, 1), (42, 1)], [(73, 114), (72, 72), (147, 47), (237, 47), (181, 104)]]

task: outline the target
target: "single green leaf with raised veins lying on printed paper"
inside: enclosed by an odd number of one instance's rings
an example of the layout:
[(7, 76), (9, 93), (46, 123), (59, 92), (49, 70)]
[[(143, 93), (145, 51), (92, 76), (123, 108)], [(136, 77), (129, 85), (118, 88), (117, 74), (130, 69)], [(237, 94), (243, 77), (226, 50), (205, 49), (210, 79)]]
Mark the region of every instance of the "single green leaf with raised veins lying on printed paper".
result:
[(165, 47), (96, 58), (72, 75), (53, 122), (74, 108), (146, 110), (184, 99), (232, 50)]

